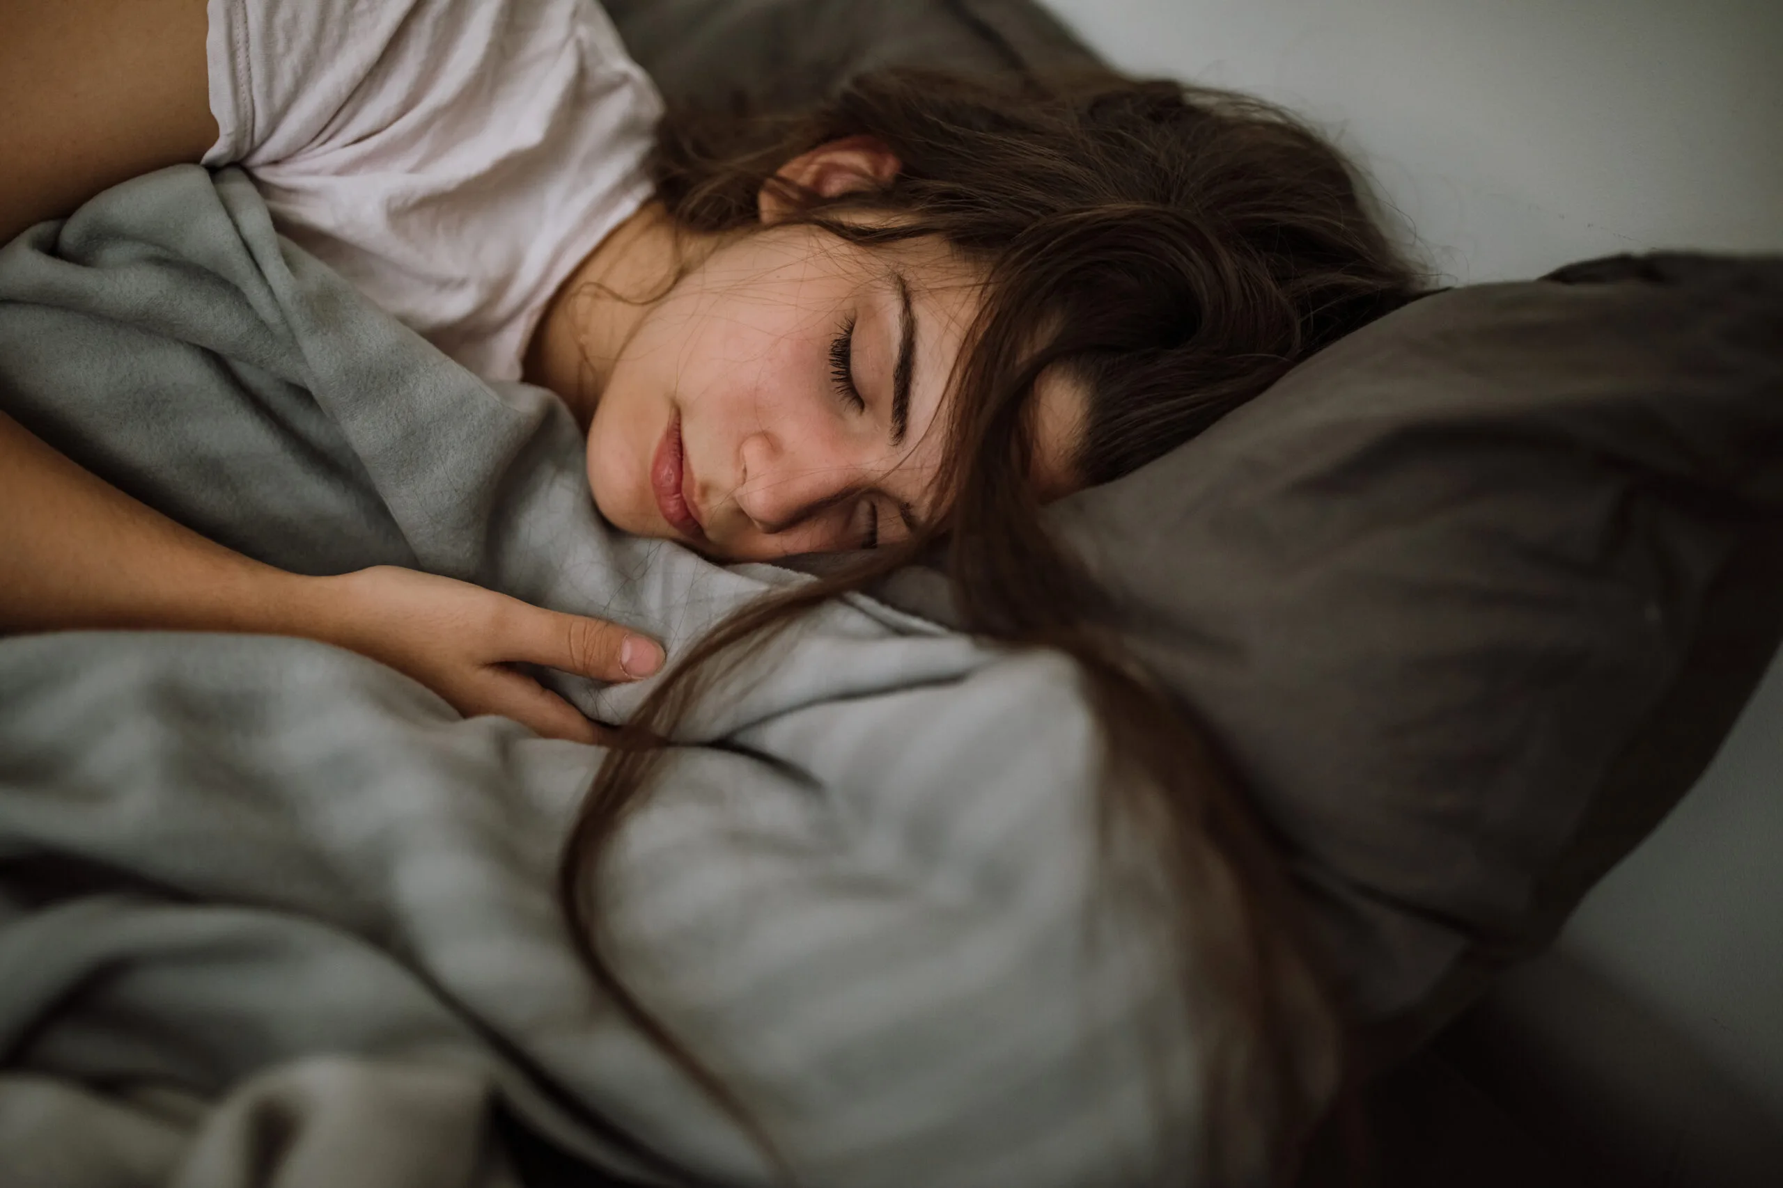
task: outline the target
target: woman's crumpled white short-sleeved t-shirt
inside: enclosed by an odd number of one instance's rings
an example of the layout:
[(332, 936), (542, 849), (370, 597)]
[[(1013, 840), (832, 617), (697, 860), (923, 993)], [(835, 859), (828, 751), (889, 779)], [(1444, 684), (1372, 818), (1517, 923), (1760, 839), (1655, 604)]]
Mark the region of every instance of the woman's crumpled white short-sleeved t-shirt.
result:
[(209, 0), (207, 166), (471, 370), (649, 196), (661, 112), (594, 0)]

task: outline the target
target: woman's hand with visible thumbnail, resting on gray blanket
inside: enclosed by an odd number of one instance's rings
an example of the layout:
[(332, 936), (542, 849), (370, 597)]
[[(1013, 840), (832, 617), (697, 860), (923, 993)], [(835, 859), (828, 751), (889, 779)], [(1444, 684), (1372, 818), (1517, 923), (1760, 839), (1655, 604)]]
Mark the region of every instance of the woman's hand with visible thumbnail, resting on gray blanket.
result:
[(599, 743), (606, 732), (512, 664), (596, 680), (637, 680), (663, 666), (661, 647), (645, 636), (451, 577), (382, 565), (310, 581), (301, 634), (414, 677), (465, 718), (501, 714), (544, 737)]

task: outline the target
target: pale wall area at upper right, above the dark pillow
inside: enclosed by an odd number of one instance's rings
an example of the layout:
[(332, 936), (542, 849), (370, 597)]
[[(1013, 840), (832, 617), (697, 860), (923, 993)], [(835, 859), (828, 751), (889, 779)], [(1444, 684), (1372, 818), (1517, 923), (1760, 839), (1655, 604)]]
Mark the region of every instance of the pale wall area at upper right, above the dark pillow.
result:
[(1450, 280), (1783, 249), (1783, 0), (1043, 0), (1337, 134)]

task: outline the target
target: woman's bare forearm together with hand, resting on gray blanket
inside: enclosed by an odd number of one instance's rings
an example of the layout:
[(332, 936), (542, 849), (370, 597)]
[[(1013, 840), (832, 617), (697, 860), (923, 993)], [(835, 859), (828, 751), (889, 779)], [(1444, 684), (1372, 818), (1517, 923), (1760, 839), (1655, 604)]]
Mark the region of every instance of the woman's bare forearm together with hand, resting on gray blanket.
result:
[(0, 634), (184, 629), (301, 636), (403, 671), (462, 714), (592, 743), (599, 728), (510, 668), (645, 677), (661, 648), (449, 577), (378, 566), (300, 577), (232, 552), (87, 474), (0, 413)]

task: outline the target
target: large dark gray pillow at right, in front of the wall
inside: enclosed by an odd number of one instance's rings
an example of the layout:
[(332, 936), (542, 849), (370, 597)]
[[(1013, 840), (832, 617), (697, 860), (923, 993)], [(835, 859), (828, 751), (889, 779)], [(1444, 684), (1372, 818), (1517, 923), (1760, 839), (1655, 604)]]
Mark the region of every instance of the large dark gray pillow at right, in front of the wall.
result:
[(1783, 634), (1783, 260), (1425, 297), (1056, 508), (1421, 1038), (1708, 764)]

